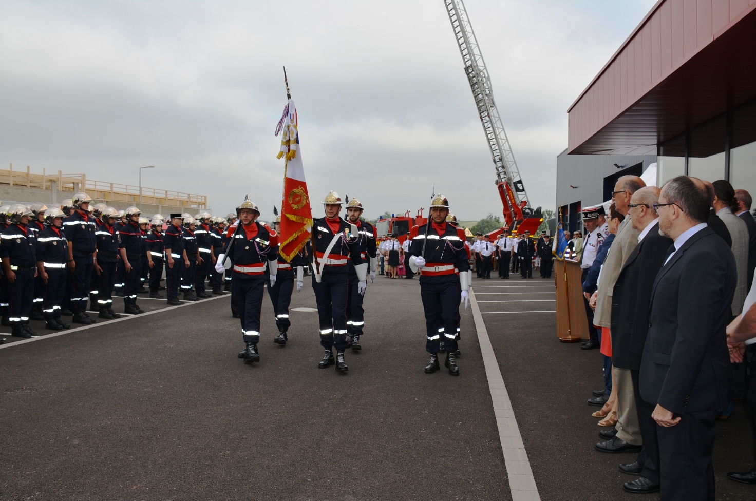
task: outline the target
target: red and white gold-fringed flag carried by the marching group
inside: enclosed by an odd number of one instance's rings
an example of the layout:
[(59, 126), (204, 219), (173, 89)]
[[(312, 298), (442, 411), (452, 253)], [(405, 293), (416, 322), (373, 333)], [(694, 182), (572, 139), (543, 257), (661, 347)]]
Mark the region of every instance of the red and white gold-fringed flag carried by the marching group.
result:
[(278, 241), (280, 254), (291, 261), (307, 243), (312, 231), (312, 209), (302, 165), (302, 147), (299, 144), (299, 130), (294, 101), (284, 111), (276, 129), (283, 132), (278, 158), (285, 158), (283, 169), (283, 200), (281, 201), (281, 230)]

